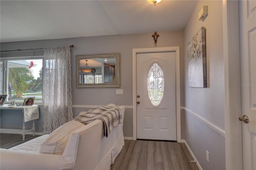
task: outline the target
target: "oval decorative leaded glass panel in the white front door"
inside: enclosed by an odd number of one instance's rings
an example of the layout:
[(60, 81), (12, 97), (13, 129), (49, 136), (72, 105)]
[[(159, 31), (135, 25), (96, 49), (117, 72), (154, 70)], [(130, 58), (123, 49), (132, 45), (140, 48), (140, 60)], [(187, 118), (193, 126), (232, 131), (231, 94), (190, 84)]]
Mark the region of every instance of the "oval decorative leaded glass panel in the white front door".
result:
[(158, 63), (152, 64), (148, 72), (148, 97), (153, 106), (161, 103), (164, 94), (164, 76)]

